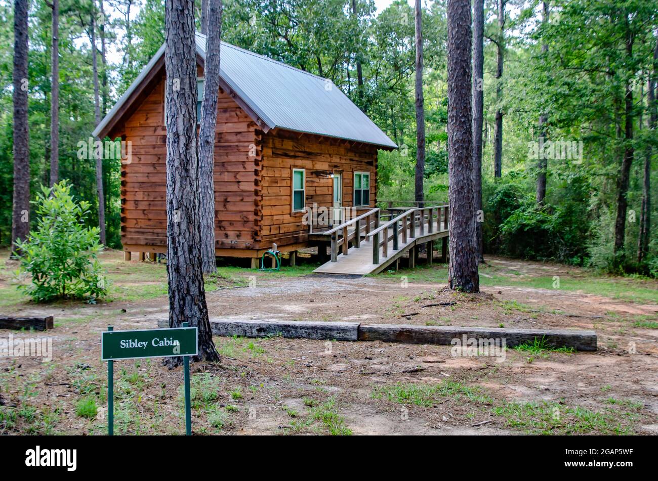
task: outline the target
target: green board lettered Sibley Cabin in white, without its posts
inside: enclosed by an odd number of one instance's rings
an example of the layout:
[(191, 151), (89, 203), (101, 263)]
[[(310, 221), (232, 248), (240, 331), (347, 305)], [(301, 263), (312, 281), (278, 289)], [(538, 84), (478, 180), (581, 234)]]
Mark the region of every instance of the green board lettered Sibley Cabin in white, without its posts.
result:
[(105, 331), (101, 335), (101, 360), (196, 355), (197, 339), (196, 327)]

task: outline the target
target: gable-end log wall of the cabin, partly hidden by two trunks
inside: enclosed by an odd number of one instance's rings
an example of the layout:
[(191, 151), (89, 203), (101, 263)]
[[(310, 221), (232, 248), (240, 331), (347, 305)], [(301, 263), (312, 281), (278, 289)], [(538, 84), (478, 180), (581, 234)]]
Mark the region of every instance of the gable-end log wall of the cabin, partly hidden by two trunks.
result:
[[(121, 170), (122, 243), (145, 246), (145, 251), (149, 250), (148, 246), (166, 245), (163, 93), (161, 81), (113, 133), (132, 141), (132, 161)], [(257, 214), (261, 196), (256, 179), (262, 160), (255, 128), (238, 104), (220, 92), (215, 145), (215, 246), (218, 249), (254, 248), (259, 240)]]

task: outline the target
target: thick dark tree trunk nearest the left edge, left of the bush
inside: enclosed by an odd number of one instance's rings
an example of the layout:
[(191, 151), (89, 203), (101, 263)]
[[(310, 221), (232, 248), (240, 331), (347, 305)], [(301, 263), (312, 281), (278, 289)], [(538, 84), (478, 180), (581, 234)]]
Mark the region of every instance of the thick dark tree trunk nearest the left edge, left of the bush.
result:
[[(30, 231), (30, 144), (28, 129), (28, 0), (14, 0), (14, 193), (11, 244)], [(16, 254), (20, 251), (16, 250)]]

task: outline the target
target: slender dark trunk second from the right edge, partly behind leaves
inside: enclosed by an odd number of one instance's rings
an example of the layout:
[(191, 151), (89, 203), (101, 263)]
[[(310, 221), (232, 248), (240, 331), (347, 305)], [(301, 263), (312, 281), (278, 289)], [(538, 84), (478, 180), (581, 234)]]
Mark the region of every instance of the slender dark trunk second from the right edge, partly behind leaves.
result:
[[(633, 56), (633, 34), (626, 18), (626, 57)], [(626, 209), (628, 208), (628, 183), (630, 168), (633, 164), (633, 89), (626, 80), (626, 95), (624, 95), (624, 158), (619, 170), (617, 181), (617, 219), (615, 220), (615, 267), (619, 268), (623, 261), (624, 237), (626, 235)]]

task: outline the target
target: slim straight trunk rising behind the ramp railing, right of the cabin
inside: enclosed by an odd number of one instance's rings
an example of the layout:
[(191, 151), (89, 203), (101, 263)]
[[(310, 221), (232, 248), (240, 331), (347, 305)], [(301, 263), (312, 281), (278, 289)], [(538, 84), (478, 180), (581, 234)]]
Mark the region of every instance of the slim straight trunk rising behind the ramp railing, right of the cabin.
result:
[[(416, 185), (415, 200), (418, 207), (424, 201), (423, 181), (425, 178), (425, 110), (422, 97), (422, 9), (416, 0), (414, 9), (416, 24)], [(418, 203), (420, 202), (420, 203)]]

